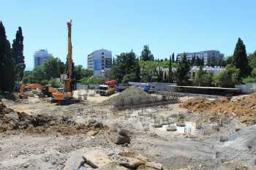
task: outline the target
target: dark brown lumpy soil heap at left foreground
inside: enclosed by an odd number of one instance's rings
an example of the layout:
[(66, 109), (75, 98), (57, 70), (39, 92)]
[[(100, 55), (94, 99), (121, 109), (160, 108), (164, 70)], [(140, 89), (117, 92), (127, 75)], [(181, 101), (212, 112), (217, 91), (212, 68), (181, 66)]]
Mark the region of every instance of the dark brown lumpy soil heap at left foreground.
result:
[(86, 134), (95, 123), (88, 125), (75, 123), (72, 117), (52, 115), (29, 115), (7, 108), (0, 100), (0, 133), (23, 131), (36, 134), (60, 133), (63, 135)]

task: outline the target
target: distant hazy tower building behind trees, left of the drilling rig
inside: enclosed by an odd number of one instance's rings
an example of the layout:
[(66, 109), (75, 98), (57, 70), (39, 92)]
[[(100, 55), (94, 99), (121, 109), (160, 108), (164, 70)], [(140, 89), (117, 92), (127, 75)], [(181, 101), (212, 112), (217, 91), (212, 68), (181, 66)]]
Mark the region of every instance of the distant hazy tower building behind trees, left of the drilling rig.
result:
[(38, 50), (34, 53), (34, 68), (42, 66), (42, 63), (52, 58), (53, 55), (48, 53), (48, 50)]

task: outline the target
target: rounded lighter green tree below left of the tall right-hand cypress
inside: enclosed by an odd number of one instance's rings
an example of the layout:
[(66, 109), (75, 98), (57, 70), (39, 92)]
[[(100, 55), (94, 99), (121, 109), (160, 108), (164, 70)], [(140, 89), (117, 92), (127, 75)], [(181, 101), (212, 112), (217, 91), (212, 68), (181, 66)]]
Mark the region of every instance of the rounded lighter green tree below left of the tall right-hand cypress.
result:
[(235, 66), (227, 65), (225, 70), (215, 77), (215, 82), (219, 87), (222, 88), (234, 88), (239, 82), (239, 76), (239, 69), (236, 69)]

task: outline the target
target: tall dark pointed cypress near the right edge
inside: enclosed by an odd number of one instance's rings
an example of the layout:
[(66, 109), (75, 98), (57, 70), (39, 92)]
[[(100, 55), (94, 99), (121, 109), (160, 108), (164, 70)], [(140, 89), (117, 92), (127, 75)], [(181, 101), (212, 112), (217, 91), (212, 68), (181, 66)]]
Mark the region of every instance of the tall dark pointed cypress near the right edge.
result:
[(241, 77), (246, 77), (248, 71), (248, 58), (246, 55), (246, 47), (240, 38), (238, 38), (238, 42), (236, 43), (236, 48), (234, 50), (233, 65), (236, 66), (237, 69), (240, 69)]

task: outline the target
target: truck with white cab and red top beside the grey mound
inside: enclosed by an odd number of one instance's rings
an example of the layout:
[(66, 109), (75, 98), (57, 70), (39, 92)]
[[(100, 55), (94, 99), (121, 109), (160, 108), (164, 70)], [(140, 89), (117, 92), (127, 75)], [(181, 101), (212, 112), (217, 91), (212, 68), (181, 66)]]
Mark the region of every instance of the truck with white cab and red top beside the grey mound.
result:
[(99, 93), (100, 96), (110, 96), (113, 93), (116, 93), (116, 80), (110, 80), (105, 82), (105, 85), (99, 85)]

